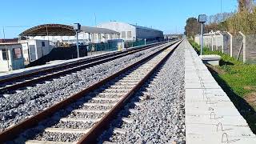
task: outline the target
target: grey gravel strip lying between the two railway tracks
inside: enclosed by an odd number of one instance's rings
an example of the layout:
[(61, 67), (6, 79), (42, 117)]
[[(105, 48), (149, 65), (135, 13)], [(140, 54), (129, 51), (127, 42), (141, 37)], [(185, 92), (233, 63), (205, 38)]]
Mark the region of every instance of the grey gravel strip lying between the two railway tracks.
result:
[(17, 94), (10, 94), (9, 97), (0, 98), (0, 132), (8, 126), (21, 122), (31, 115), (52, 106), (54, 103), (69, 97), (78, 91), (114, 74), (138, 60), (154, 53), (156, 48), (143, 50), (136, 54), (130, 54), (104, 64), (80, 70), (68, 74), (62, 78), (42, 83), (31, 89), (22, 90)]

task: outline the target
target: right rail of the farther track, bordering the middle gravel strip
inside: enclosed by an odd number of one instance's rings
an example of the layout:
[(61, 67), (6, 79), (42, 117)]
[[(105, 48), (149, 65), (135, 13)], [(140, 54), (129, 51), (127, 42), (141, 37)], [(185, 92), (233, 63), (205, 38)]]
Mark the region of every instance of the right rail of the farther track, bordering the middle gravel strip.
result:
[[(162, 44), (157, 45), (157, 46), (162, 46)], [(74, 72), (74, 71), (86, 69), (88, 67), (96, 66), (96, 65), (104, 63), (104, 62), (109, 62), (111, 60), (114, 60), (114, 59), (117, 59), (117, 58), (122, 58), (126, 55), (134, 54), (134, 53), (137, 53), (138, 51), (146, 50), (146, 49), (152, 48), (152, 47), (154, 47), (154, 46), (145, 47), (145, 48), (138, 49), (138, 50), (129, 50), (125, 54), (114, 55), (113, 57), (110, 57), (110, 58), (100, 59), (98, 61), (89, 62), (89, 63), (86, 63), (86, 64), (81, 65), (81, 66), (76, 66), (76, 67), (74, 66), (73, 68), (70, 68), (70, 69), (67, 69), (67, 70), (62, 70), (62, 71), (58, 71), (58, 72), (55, 72), (55, 73), (52, 73), (52, 74), (43, 75), (42, 77), (29, 79), (29, 80), (26, 80), (24, 82), (14, 83), (13, 85), (5, 86), (5, 87), (0, 88), (0, 94), (4, 94), (7, 91), (18, 90), (19, 88), (22, 88), (22, 87), (25, 87), (25, 86), (30, 86), (30, 85), (36, 84), (38, 82), (43, 82), (43, 81), (49, 80), (51, 78), (58, 78), (59, 76), (69, 74), (69, 73)], [(24, 78), (24, 77), (26, 77), (26, 75), (22, 76), (22, 78)]]

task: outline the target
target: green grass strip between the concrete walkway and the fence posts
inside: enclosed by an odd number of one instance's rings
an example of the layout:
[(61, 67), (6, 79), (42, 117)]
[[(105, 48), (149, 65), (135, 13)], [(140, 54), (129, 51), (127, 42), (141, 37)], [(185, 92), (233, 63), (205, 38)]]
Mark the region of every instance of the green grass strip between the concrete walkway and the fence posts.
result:
[[(190, 44), (199, 54), (198, 43), (190, 41)], [(203, 54), (218, 54), (222, 57), (220, 66), (207, 67), (256, 134), (256, 65), (243, 64), (228, 54), (211, 51), (208, 47), (204, 47)]]

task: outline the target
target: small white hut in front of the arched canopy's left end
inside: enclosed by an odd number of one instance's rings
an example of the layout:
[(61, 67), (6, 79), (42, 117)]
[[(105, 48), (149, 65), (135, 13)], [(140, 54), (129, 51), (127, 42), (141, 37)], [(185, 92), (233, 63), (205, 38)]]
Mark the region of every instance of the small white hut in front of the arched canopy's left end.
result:
[(33, 62), (38, 58), (42, 58), (50, 53), (54, 46), (50, 45), (50, 41), (41, 39), (21, 40), (23, 55), (26, 63)]

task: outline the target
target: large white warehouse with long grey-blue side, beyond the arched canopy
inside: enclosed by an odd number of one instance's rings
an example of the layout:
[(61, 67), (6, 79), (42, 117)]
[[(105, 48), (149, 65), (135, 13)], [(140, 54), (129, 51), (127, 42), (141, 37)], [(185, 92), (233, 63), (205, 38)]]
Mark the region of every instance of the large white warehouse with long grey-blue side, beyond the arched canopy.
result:
[(161, 30), (132, 25), (125, 22), (106, 22), (97, 27), (118, 31), (121, 34), (120, 38), (124, 41), (136, 41), (142, 39), (153, 41), (163, 39), (163, 32)]

